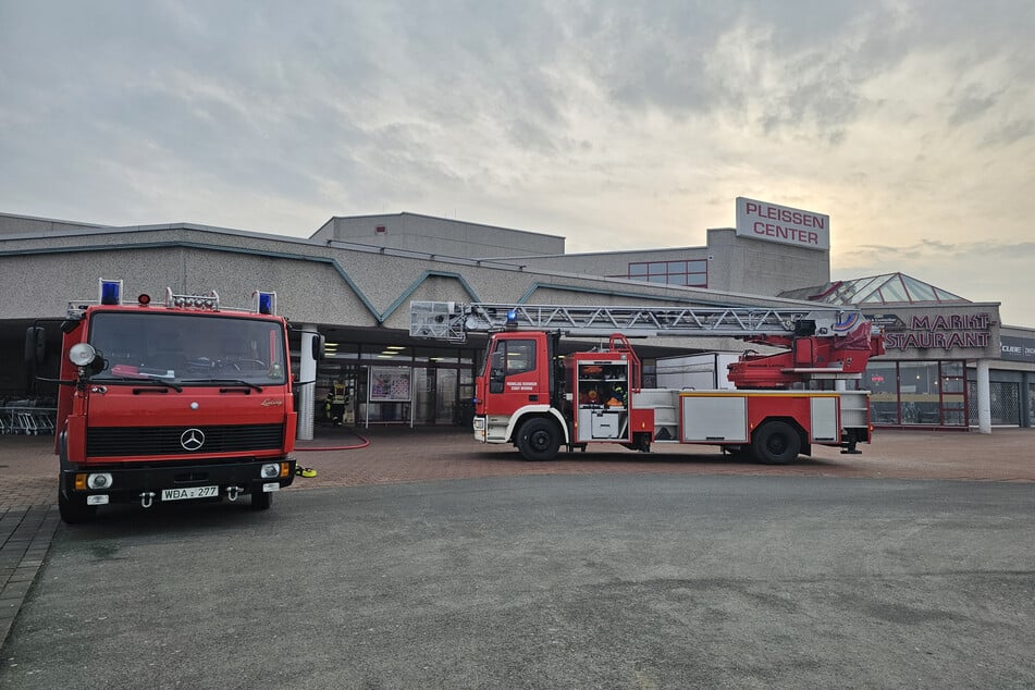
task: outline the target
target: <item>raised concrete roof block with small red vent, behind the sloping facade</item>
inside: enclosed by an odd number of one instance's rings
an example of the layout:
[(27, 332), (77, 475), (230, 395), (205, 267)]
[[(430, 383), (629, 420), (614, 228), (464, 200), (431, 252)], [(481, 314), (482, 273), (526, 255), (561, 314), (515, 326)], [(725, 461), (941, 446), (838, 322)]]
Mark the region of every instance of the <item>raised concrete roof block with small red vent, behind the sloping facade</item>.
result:
[(332, 218), (311, 238), (469, 259), (564, 254), (564, 237), (556, 235), (417, 213)]

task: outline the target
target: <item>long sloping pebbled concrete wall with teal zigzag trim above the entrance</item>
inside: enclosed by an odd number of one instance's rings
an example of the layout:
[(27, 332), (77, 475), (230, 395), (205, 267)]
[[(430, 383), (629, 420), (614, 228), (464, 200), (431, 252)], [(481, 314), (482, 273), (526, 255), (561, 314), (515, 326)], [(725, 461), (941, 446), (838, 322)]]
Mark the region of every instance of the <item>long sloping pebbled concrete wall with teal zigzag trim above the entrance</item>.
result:
[(215, 289), (225, 306), (245, 307), (252, 291), (275, 289), (280, 310), (295, 321), (404, 330), (411, 299), (773, 304), (756, 296), (173, 225), (0, 241), (0, 320), (61, 317), (69, 300), (96, 299), (98, 278), (122, 279), (128, 298), (146, 292), (160, 300), (167, 286), (196, 294)]

